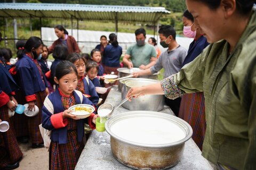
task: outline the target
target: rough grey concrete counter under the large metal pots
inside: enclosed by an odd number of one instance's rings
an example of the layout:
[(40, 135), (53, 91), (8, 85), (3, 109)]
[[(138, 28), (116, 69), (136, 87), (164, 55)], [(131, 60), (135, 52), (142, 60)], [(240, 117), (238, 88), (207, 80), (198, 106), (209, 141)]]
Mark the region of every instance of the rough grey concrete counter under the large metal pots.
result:
[[(121, 101), (121, 92), (117, 90), (117, 86), (111, 88), (106, 103), (117, 104)], [(128, 112), (129, 110), (124, 107), (117, 108), (113, 115)], [(168, 106), (164, 106), (164, 109), (160, 112), (172, 114), (173, 112)], [(98, 132), (93, 130), (90, 138), (83, 149), (83, 152), (76, 165), (76, 170), (88, 169), (88, 170), (113, 170), (113, 169), (132, 169), (121, 163), (119, 163), (111, 152), (110, 147), (110, 135), (105, 132)], [(185, 149), (180, 162), (169, 169), (213, 169), (209, 162), (201, 155), (201, 150), (196, 146), (196, 143), (189, 139), (185, 143)]]

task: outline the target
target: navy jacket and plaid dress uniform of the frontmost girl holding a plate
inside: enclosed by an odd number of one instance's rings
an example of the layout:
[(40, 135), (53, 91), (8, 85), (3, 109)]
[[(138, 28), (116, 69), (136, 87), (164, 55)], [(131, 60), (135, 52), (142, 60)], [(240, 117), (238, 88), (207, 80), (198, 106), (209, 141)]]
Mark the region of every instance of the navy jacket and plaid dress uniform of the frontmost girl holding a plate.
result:
[(42, 109), (42, 126), (51, 130), (51, 144), (49, 148), (50, 169), (74, 169), (79, 156), (84, 148), (83, 135), (84, 123), (95, 129), (91, 116), (73, 120), (62, 117), (62, 112), (76, 104), (89, 104), (92, 102), (82, 95), (82, 102), (79, 97), (82, 93), (75, 90), (70, 96), (63, 95), (59, 89), (46, 97)]

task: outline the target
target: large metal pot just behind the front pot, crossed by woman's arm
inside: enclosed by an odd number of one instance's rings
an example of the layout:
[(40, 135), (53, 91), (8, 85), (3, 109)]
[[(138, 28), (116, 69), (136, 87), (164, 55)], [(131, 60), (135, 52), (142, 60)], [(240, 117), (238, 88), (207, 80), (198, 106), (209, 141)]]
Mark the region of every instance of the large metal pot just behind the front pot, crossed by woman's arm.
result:
[[(157, 80), (130, 80), (125, 82), (126, 94), (132, 87), (148, 86)], [(129, 102), (129, 101), (128, 101)], [(122, 105), (123, 106), (123, 105)], [(164, 95), (146, 95), (133, 98), (129, 102), (130, 111), (161, 111), (164, 108)]]

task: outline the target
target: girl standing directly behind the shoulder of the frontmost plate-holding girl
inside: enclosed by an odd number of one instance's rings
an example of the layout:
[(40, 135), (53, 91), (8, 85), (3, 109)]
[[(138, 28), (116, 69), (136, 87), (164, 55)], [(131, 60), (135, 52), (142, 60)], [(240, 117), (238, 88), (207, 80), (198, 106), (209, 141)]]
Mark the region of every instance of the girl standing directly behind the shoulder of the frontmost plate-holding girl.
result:
[(84, 77), (84, 73), (85, 73), (84, 58), (78, 53), (71, 53), (68, 55), (68, 58), (69, 58), (68, 60), (75, 65), (78, 73), (76, 90), (81, 91), (82, 94), (85, 95), (85, 97), (89, 95), (88, 96), (89, 99), (96, 106), (99, 101), (99, 96), (95, 90), (95, 87), (92, 81), (89, 78)]

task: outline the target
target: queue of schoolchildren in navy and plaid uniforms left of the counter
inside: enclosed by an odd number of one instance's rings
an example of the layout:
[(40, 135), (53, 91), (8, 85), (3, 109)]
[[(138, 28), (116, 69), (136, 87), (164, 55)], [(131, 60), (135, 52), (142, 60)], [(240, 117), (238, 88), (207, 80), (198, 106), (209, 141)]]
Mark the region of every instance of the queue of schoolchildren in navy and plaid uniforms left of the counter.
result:
[[(34, 36), (27, 41), (19, 40), (14, 63), (10, 63), (10, 50), (0, 49), (3, 80), (0, 82), (0, 110), (3, 113), (0, 119), (10, 124), (7, 132), (0, 132), (0, 147), (4, 148), (0, 150), (0, 169), (19, 167), (22, 152), (18, 140), (21, 143), (31, 142), (31, 148), (44, 147), (38, 126), (41, 123), (43, 128), (51, 130), (50, 168), (74, 169), (84, 147), (84, 123), (91, 129), (95, 128), (98, 117), (95, 114), (102, 95), (97, 93), (95, 87), (105, 86), (101, 52), (97, 48), (92, 49), (91, 55), (79, 54), (79, 50), (78, 53), (69, 52), (68, 33), (59, 26), (55, 32), (61, 43), (56, 41), (54, 48), (48, 48)], [(66, 39), (62, 39), (62, 33)], [(54, 58), (52, 63), (47, 61), (50, 53)], [(9, 112), (15, 111), (18, 104), (28, 104), (31, 112), (38, 107), (39, 112), (31, 117), (24, 114), (9, 117)], [(75, 104), (92, 105), (95, 114), (78, 120), (68, 110)], [(59, 139), (59, 135), (65, 138)], [(73, 156), (67, 157), (67, 152)]]

